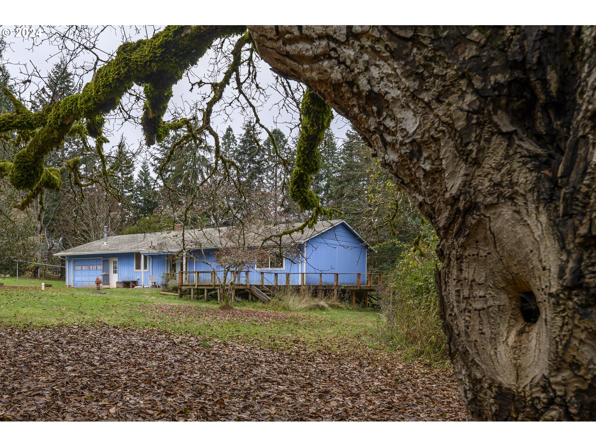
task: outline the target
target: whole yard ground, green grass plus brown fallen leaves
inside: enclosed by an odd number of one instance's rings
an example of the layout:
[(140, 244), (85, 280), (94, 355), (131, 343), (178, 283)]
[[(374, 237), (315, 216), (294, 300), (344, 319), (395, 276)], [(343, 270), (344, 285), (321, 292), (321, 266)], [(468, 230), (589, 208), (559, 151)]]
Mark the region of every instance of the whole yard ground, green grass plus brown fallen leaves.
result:
[(0, 420), (465, 419), (450, 370), (403, 362), (374, 309), (18, 285), (0, 287)]

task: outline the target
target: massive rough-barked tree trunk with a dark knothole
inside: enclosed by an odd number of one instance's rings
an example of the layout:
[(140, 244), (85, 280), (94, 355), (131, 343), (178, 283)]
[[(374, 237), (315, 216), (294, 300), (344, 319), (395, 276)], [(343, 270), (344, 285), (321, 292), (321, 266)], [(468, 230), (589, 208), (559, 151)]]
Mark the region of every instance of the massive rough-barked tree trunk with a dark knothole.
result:
[(596, 418), (596, 32), (249, 27), (433, 224), (473, 420)]

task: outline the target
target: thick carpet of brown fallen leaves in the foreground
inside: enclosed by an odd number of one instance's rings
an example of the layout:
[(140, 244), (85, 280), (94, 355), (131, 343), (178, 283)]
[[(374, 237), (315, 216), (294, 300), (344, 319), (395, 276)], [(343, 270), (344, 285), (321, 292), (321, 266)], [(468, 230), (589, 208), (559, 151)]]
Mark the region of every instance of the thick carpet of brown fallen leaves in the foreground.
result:
[(454, 377), (394, 353), (108, 325), (0, 327), (4, 420), (464, 420)]

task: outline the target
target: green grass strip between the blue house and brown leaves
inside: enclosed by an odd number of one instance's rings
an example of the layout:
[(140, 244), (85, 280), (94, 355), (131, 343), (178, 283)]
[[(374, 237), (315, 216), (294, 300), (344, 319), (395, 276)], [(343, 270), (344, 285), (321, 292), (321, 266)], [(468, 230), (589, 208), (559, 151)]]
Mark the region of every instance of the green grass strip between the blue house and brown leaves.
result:
[(218, 303), (191, 301), (159, 294), (158, 289), (111, 289), (95, 294), (89, 289), (65, 288), (64, 283), (14, 278), (0, 280), (5, 285), (38, 288), (0, 287), (1, 325), (114, 325), (157, 327), (170, 333), (191, 333), (210, 339), (257, 343), (291, 348), (306, 344), (313, 349), (366, 346), (384, 349), (376, 334), (377, 312), (349, 308), (327, 311), (288, 312), (279, 305), (260, 302), (238, 303), (222, 311)]

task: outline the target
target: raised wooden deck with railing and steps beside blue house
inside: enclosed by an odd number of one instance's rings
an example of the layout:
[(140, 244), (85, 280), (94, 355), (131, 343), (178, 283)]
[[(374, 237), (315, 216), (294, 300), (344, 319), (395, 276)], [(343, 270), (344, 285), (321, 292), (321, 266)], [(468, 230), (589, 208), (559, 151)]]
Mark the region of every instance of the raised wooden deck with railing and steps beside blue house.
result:
[[(202, 292), (205, 300), (212, 293), (218, 293), (219, 297), (222, 287), (229, 287), (229, 283), (233, 282), (234, 293), (248, 293), (263, 302), (268, 302), (268, 297), (283, 292), (286, 288), (309, 288), (322, 293), (333, 293), (336, 298), (338, 293), (350, 293), (352, 304), (355, 305), (359, 299), (363, 305), (368, 306), (368, 293), (383, 284), (383, 275), (371, 273), (230, 272), (226, 281), (223, 281), (223, 274), (223, 271), (178, 272), (178, 296), (181, 296), (183, 290), (190, 290), (193, 299), (195, 291), (199, 294)], [(258, 281), (251, 281), (250, 277), (254, 275), (259, 277)]]

